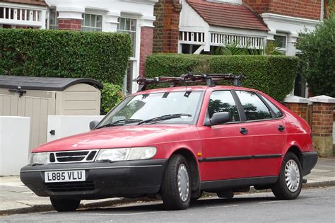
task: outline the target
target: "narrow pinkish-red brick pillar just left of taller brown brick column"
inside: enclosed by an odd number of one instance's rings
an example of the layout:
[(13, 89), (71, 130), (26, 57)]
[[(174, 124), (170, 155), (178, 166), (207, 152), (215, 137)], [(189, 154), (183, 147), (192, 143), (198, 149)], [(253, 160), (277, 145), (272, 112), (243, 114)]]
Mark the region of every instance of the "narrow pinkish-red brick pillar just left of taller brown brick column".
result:
[(146, 57), (153, 53), (153, 27), (141, 27), (140, 66), (139, 75), (144, 76)]

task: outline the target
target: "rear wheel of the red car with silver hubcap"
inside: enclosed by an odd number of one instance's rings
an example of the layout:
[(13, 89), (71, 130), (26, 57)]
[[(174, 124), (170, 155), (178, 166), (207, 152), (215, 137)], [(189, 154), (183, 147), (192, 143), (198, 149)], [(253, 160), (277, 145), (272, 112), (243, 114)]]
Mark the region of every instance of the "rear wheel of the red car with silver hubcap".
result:
[(292, 200), (298, 198), (302, 188), (302, 171), (300, 161), (295, 154), (288, 152), (281, 164), (278, 181), (272, 187), (276, 198)]

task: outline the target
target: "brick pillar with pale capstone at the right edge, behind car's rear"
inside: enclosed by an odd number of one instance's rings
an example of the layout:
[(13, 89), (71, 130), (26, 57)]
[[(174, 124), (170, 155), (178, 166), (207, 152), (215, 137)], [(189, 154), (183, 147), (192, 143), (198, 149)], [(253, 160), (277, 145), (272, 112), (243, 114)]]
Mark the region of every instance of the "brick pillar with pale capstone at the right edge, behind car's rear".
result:
[(313, 103), (312, 137), (315, 151), (321, 157), (333, 154), (333, 110), (335, 98), (317, 96), (308, 98)]

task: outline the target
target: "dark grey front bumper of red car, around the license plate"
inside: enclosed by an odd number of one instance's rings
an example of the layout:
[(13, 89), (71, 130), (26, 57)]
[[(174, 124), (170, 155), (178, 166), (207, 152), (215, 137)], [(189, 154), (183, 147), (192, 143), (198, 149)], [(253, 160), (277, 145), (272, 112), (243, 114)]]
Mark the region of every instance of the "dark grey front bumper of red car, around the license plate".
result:
[[(135, 197), (158, 193), (167, 159), (24, 166), (21, 181), (36, 195), (66, 199)], [(85, 170), (86, 181), (45, 183), (45, 171)]]

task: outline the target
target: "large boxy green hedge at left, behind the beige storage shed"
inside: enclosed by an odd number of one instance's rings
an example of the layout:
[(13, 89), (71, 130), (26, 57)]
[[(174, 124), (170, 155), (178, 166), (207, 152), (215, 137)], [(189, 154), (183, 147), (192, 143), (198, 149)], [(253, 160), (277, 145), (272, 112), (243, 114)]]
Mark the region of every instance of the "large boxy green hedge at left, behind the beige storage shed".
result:
[(0, 29), (0, 74), (91, 78), (121, 85), (127, 34)]

